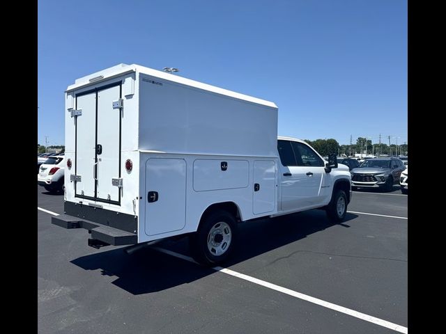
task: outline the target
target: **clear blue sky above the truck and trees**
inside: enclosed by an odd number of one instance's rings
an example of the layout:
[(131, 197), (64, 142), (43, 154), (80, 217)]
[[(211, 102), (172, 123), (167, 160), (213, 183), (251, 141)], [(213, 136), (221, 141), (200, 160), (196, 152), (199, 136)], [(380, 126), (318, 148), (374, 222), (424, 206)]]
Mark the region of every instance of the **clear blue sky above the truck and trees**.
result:
[(282, 136), (407, 141), (405, 0), (40, 0), (38, 143), (63, 145), (67, 86), (118, 63), (275, 102)]

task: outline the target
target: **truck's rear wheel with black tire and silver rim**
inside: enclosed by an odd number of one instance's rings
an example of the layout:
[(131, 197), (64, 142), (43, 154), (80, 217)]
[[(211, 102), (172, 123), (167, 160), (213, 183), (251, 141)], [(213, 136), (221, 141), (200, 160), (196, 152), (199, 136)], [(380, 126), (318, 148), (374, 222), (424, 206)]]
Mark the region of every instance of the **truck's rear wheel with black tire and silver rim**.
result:
[(192, 257), (205, 266), (220, 264), (231, 255), (236, 236), (236, 218), (224, 210), (212, 212), (202, 218), (199, 229), (189, 239)]

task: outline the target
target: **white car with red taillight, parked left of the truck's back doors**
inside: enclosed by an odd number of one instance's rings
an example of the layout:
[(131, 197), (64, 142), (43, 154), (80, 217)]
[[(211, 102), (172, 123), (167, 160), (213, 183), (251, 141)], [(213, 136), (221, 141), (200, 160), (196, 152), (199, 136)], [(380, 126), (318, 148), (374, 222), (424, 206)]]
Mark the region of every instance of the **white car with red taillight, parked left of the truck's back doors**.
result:
[(50, 193), (63, 191), (64, 157), (56, 155), (49, 157), (40, 165), (37, 175), (37, 184), (43, 186)]

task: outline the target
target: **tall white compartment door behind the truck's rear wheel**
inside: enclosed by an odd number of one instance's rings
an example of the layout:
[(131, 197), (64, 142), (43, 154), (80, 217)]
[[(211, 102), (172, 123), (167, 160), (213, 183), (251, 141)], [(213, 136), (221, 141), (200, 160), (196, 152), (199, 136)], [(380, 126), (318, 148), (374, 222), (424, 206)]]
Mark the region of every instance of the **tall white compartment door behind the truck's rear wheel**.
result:
[(185, 160), (148, 159), (145, 207), (147, 235), (173, 232), (185, 227)]

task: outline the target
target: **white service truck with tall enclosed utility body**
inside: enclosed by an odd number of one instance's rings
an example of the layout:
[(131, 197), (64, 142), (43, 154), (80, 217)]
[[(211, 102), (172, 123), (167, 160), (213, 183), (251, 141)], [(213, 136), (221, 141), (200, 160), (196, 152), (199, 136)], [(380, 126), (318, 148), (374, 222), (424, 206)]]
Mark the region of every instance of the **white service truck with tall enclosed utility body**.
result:
[[(66, 90), (63, 228), (89, 246), (190, 237), (203, 264), (230, 255), (237, 225), (323, 208), (346, 215), (351, 175), (304, 141), (277, 137), (277, 106), (139, 65)], [(137, 247), (137, 246), (135, 246)]]

